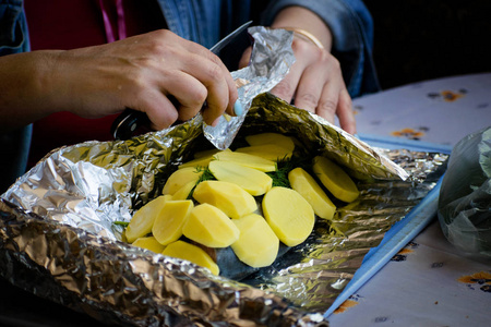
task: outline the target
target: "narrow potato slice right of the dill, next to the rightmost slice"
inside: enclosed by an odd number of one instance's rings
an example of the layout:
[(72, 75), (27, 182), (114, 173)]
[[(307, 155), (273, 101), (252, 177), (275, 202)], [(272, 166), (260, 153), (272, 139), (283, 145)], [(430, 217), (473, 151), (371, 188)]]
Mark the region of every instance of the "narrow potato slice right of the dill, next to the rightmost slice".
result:
[(336, 206), (306, 170), (300, 167), (295, 168), (288, 173), (288, 181), (291, 189), (300, 193), (312, 206), (315, 215), (323, 219), (333, 219)]

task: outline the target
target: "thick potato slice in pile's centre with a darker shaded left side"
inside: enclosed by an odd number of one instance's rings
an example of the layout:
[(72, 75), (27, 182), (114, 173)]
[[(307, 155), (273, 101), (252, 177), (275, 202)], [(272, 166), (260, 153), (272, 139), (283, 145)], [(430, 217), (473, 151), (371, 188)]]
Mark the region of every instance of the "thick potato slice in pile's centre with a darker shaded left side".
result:
[(237, 184), (204, 181), (194, 189), (193, 197), (219, 208), (230, 218), (240, 218), (258, 209), (255, 198)]

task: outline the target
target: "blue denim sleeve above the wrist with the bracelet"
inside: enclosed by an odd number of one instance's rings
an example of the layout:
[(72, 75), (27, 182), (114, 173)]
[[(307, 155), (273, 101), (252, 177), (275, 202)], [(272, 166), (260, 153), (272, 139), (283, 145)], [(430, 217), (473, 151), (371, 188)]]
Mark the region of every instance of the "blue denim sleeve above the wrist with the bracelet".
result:
[(333, 34), (333, 55), (339, 60), (351, 97), (380, 89), (372, 60), (373, 21), (361, 0), (277, 0), (262, 17), (270, 25), (276, 14), (290, 5), (316, 13)]

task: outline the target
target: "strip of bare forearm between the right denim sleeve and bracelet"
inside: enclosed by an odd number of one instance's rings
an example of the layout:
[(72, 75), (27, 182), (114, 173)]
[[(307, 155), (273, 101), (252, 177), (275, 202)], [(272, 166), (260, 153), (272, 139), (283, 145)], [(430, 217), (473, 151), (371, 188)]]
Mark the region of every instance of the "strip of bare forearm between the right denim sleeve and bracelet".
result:
[(331, 51), (333, 36), (328, 26), (318, 14), (308, 9), (287, 7), (278, 12), (271, 27), (294, 27), (307, 31), (321, 41), (324, 49)]

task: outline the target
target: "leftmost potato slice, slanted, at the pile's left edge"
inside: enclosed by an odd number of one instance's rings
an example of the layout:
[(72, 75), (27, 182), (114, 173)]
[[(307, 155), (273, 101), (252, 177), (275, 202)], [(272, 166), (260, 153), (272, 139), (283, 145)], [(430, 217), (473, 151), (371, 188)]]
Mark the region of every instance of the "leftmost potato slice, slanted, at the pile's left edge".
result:
[(131, 218), (124, 230), (128, 243), (133, 243), (137, 238), (146, 237), (152, 231), (155, 218), (161, 214), (161, 209), (170, 195), (160, 195), (143, 207), (141, 207)]

